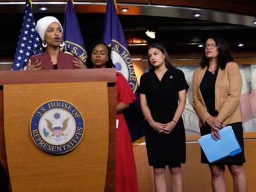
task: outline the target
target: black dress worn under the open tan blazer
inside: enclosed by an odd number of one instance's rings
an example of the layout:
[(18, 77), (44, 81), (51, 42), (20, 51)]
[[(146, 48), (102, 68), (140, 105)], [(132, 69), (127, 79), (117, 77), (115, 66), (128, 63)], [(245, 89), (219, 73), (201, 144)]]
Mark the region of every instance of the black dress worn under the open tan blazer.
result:
[[(218, 116), (218, 112), (215, 110), (215, 82), (218, 75), (218, 69), (212, 74), (210, 71), (206, 71), (205, 75), (202, 79), (200, 84), (200, 91), (202, 93), (202, 97), (204, 98), (205, 105), (207, 107), (208, 113), (212, 116)], [(241, 122), (229, 124), (232, 126), (233, 132), (235, 133), (236, 140), (240, 144), (242, 148), (242, 152), (234, 155), (229, 156), (226, 158), (222, 158), (217, 162), (209, 163), (207, 157), (202, 151), (201, 148), (201, 163), (208, 163), (208, 164), (215, 164), (215, 165), (242, 165), (245, 162), (244, 157), (244, 142), (243, 142), (243, 126)], [(211, 127), (203, 125), (200, 127), (201, 136), (206, 135), (208, 133), (212, 133)]]

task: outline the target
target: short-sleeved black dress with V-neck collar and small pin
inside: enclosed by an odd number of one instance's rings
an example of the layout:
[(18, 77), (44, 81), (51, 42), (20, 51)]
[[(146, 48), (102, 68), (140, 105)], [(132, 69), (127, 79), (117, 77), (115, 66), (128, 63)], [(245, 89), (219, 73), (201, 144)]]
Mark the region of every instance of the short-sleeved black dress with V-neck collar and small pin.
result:
[[(146, 95), (152, 118), (158, 123), (169, 123), (176, 112), (179, 91), (188, 90), (188, 84), (180, 69), (168, 69), (160, 81), (154, 72), (141, 76), (138, 93)], [(145, 138), (149, 165), (176, 167), (185, 163), (186, 143), (182, 118), (171, 133), (158, 134), (145, 120)]]

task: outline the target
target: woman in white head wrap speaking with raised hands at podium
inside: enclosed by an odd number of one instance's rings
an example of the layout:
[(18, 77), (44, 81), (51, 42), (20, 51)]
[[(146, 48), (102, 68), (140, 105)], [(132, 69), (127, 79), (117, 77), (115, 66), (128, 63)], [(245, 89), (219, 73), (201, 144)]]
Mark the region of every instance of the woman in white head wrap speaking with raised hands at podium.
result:
[(38, 32), (42, 46), (46, 49), (43, 54), (33, 55), (27, 62), (27, 70), (41, 69), (85, 69), (85, 64), (74, 57), (60, 51), (64, 46), (63, 29), (59, 20), (54, 16), (44, 16), (37, 21), (35, 30)]

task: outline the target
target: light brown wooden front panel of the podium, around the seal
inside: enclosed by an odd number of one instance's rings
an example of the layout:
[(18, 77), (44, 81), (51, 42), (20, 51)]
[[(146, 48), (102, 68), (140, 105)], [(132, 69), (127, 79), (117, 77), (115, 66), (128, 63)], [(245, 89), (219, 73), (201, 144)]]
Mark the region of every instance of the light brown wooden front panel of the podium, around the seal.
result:
[[(76, 106), (84, 135), (52, 155), (32, 140), (30, 121), (49, 101)], [(4, 132), (12, 191), (104, 191), (108, 163), (107, 82), (4, 85)]]

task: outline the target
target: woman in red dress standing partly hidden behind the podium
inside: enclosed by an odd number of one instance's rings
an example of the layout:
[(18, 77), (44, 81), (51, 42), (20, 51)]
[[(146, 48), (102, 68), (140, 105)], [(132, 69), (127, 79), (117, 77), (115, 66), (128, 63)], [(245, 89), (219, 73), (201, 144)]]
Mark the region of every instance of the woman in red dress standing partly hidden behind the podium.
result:
[[(87, 68), (114, 68), (111, 49), (101, 42), (91, 45), (86, 62)], [(123, 74), (116, 72), (117, 105), (116, 119), (116, 174), (115, 192), (138, 192), (137, 173), (133, 156), (132, 140), (123, 112), (136, 97)]]

